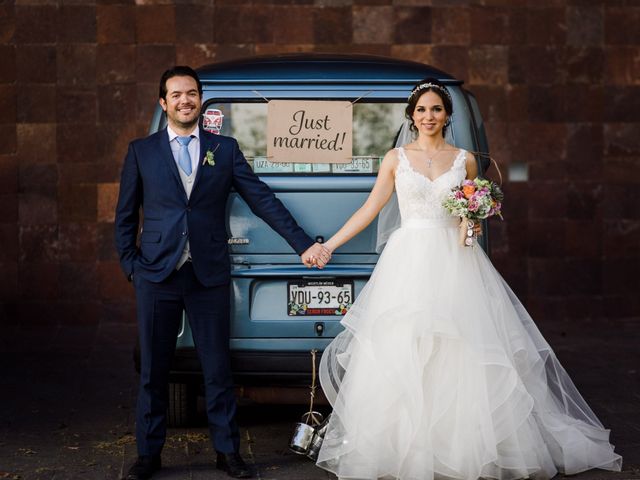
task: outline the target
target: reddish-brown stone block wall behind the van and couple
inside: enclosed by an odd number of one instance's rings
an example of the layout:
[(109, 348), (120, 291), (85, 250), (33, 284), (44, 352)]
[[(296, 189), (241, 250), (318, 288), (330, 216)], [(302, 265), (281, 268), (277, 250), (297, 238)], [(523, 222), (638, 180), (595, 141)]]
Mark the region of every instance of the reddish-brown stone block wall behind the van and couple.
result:
[(133, 322), (113, 247), (127, 143), (168, 66), (370, 53), (464, 79), (505, 171), (493, 259), (534, 317), (640, 319), (632, 0), (0, 1), (0, 317)]

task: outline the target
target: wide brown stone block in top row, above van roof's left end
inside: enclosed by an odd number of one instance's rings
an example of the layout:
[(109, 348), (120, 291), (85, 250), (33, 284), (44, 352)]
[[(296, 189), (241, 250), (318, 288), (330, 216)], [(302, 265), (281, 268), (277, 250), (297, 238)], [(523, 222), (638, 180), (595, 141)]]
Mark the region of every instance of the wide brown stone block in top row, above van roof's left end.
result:
[(273, 43), (273, 10), (269, 6), (215, 6), (214, 43)]

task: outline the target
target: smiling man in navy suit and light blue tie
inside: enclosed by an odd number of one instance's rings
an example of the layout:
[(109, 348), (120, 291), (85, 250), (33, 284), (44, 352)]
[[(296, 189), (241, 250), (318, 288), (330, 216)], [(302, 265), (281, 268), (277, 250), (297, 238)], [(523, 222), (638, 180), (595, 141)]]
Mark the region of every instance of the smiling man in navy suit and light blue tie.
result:
[(330, 254), (253, 173), (236, 140), (198, 127), (202, 85), (193, 69), (177, 66), (164, 72), (159, 102), (168, 127), (129, 145), (115, 218), (120, 264), (136, 290), (141, 352), (138, 459), (125, 478), (151, 478), (160, 469), (169, 367), (183, 309), (204, 374), (217, 467), (231, 477), (247, 478), (251, 473), (238, 453), (229, 365), (225, 210), (231, 188), (284, 237), (307, 267), (324, 265)]

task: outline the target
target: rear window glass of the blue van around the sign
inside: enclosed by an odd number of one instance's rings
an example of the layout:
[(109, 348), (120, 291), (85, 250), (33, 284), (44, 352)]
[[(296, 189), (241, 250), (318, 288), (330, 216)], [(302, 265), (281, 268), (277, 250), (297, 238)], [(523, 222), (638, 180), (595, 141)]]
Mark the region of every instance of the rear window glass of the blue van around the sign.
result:
[(375, 175), (382, 157), (395, 146), (404, 121), (404, 103), (353, 105), (351, 163), (273, 163), (267, 158), (267, 104), (208, 102), (201, 117), (205, 130), (238, 140), (253, 170), (260, 175)]

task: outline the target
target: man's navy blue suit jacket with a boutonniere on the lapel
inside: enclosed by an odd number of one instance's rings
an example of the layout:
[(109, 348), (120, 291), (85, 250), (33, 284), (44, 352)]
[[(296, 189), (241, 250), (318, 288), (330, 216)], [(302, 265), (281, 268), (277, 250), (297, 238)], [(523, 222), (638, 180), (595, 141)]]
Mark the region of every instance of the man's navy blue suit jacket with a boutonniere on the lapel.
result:
[[(215, 165), (203, 159), (215, 150)], [(314, 241), (251, 170), (238, 142), (200, 129), (200, 159), (191, 197), (184, 191), (167, 130), (129, 144), (116, 207), (115, 239), (125, 275), (161, 282), (176, 268), (187, 239), (205, 286), (229, 282), (226, 205), (231, 188), (300, 255)], [(137, 244), (140, 207), (144, 212)]]

